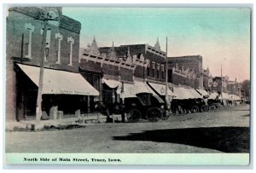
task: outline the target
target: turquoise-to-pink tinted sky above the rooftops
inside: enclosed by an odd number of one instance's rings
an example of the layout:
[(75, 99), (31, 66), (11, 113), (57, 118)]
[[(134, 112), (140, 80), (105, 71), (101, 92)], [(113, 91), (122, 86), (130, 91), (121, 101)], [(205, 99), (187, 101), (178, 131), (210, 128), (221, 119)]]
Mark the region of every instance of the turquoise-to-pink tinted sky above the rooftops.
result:
[(82, 24), (80, 48), (93, 37), (99, 47), (148, 43), (167, 55), (201, 55), (212, 76), (250, 78), (250, 15), (247, 8), (86, 8), (62, 13)]

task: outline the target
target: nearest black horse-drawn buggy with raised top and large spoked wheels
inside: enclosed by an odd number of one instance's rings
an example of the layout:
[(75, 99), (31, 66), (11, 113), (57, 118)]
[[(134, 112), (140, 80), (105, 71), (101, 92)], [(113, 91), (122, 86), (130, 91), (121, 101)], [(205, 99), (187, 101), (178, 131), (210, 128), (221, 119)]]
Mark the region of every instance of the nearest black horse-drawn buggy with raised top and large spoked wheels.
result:
[(124, 111), (128, 121), (137, 122), (139, 119), (158, 121), (169, 117), (166, 104), (159, 96), (151, 93), (138, 93), (136, 97), (125, 98)]

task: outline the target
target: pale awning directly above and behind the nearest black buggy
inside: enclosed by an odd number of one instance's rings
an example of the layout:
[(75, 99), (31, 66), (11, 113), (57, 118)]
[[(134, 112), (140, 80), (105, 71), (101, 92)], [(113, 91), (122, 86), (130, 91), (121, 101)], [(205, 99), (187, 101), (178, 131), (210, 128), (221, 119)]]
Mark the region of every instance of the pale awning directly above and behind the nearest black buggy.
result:
[(152, 93), (156, 95), (148, 84), (140, 81), (134, 81), (133, 84), (124, 84), (124, 98), (126, 97), (135, 97), (138, 93)]

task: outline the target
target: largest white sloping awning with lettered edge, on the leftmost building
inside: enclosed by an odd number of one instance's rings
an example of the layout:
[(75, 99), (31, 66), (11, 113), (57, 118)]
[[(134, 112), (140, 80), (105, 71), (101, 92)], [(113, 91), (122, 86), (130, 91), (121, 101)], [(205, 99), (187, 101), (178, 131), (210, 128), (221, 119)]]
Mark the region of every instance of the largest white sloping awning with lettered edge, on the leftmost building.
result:
[[(17, 65), (38, 86), (40, 68), (37, 66)], [(99, 92), (79, 73), (44, 68), (42, 94), (99, 95)]]

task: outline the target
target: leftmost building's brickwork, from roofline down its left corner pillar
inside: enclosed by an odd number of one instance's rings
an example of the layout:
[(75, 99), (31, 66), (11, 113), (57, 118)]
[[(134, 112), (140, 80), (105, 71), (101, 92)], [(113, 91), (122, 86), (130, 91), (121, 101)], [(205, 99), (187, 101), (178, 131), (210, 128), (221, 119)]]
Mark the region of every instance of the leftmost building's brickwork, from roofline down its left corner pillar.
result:
[[(23, 56), (23, 64), (40, 66), (42, 59), (42, 41), (43, 35), (41, 30), (44, 24), (41, 20), (34, 20), (38, 15), (39, 8), (10, 8), (9, 16), (6, 19), (6, 120), (15, 120), (16, 114), (16, 73), (14, 69), (14, 61), (20, 61)], [(68, 23), (68, 26), (67, 26)], [(34, 26), (32, 32), (32, 59), (27, 59), (26, 48), (29, 42), (26, 24)], [(78, 21), (72, 20), (67, 16), (61, 16), (61, 26), (48, 25), (50, 28), (50, 45), (48, 62), (45, 67), (67, 70), (71, 72), (79, 72), (79, 32), (81, 25)], [(55, 40), (55, 33), (61, 33), (61, 65), (55, 64), (57, 60), (56, 49), (58, 48)], [(23, 47), (22, 34), (24, 35)], [(70, 44), (67, 43), (67, 37), (73, 37), (73, 66), (68, 66)], [(23, 55), (21, 55), (23, 49)]]

